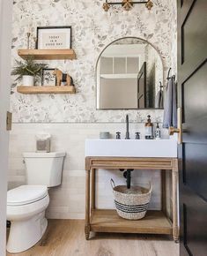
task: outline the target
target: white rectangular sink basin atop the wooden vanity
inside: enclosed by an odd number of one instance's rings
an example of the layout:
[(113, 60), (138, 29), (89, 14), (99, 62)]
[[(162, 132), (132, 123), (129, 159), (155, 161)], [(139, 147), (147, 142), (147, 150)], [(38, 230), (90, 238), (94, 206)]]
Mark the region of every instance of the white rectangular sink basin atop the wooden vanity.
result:
[(86, 139), (85, 156), (177, 157), (176, 139)]

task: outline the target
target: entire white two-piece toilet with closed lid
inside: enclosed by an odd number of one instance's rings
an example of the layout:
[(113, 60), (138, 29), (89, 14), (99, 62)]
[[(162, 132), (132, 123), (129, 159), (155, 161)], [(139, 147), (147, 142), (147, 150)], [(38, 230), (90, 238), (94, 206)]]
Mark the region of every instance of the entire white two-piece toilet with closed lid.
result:
[(62, 152), (23, 154), (26, 185), (7, 192), (8, 252), (24, 252), (43, 236), (48, 225), (48, 188), (61, 184), (64, 156)]

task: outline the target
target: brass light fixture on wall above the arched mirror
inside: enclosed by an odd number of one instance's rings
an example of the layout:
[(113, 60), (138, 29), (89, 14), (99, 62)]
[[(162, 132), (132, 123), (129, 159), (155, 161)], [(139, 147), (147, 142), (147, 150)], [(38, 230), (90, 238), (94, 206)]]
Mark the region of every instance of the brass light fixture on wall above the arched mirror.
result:
[(106, 2), (103, 4), (103, 10), (108, 11), (111, 5), (118, 5), (118, 4), (121, 4), (126, 11), (131, 10), (134, 4), (145, 4), (148, 10), (151, 10), (153, 6), (153, 3), (151, 0), (147, 0), (147, 1), (122, 0), (122, 2), (108, 2), (106, 0)]

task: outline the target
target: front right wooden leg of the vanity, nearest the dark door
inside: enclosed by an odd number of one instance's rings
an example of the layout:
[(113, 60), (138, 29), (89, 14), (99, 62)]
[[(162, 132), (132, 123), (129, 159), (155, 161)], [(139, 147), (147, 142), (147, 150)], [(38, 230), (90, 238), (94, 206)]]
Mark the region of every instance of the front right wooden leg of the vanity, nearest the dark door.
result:
[(173, 162), (173, 169), (172, 169), (172, 183), (173, 183), (173, 236), (174, 241), (179, 241), (179, 228), (178, 228), (178, 161), (174, 159)]

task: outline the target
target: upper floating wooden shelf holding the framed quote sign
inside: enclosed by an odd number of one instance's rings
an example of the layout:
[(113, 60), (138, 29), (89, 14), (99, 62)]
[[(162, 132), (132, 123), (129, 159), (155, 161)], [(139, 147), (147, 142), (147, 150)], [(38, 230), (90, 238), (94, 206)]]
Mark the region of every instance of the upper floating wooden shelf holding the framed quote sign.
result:
[(76, 58), (76, 53), (73, 49), (18, 49), (18, 56), (23, 59), (33, 56), (36, 60), (72, 60)]

